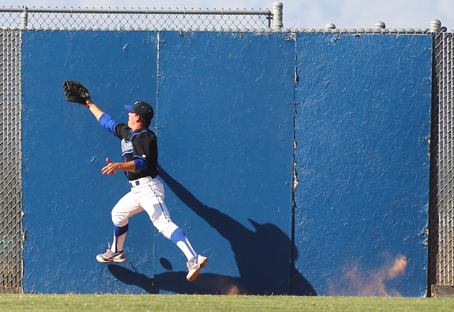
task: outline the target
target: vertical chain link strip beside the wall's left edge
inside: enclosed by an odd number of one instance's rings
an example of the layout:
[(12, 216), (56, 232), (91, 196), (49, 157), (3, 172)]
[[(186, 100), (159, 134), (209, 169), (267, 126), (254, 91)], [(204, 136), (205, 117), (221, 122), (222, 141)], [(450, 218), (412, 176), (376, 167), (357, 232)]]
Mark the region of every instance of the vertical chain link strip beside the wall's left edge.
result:
[(0, 291), (22, 288), (21, 35), (0, 32)]

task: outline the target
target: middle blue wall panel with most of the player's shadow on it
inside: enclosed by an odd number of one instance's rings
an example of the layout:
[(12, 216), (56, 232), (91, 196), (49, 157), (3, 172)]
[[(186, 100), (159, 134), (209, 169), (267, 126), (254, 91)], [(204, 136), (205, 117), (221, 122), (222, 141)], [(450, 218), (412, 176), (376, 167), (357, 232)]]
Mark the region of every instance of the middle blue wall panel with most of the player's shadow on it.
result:
[[(160, 33), (157, 134), (167, 206), (206, 271), (161, 235), (161, 293), (289, 294), (294, 42), (283, 34)], [(277, 151), (277, 152), (276, 152)], [(269, 268), (269, 259), (275, 269)]]

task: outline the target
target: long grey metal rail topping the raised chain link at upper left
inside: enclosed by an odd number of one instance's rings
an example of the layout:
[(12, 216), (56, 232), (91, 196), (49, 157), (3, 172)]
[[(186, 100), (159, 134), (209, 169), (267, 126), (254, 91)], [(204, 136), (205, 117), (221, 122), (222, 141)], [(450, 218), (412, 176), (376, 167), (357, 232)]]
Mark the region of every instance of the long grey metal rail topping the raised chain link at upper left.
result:
[(240, 10), (240, 9), (89, 9), (89, 8), (28, 8), (27, 6), (23, 7), (12, 7), (6, 8), (2, 6), (0, 8), (0, 12), (17, 12), (17, 13), (111, 13), (111, 14), (192, 14), (192, 15), (265, 15), (265, 16), (273, 16), (272, 12), (269, 9), (258, 9), (258, 10)]

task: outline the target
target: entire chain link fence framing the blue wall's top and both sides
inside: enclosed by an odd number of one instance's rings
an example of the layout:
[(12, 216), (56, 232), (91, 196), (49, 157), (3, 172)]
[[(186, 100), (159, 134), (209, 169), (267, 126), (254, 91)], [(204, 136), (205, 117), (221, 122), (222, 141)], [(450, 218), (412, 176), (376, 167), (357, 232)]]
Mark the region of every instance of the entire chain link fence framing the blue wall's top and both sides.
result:
[(22, 291), (21, 32), (27, 30), (209, 30), (284, 33), (433, 35), (431, 186), (428, 284), (453, 277), (453, 33), (433, 20), (428, 28), (282, 28), (282, 4), (265, 10), (0, 8), (0, 291)]

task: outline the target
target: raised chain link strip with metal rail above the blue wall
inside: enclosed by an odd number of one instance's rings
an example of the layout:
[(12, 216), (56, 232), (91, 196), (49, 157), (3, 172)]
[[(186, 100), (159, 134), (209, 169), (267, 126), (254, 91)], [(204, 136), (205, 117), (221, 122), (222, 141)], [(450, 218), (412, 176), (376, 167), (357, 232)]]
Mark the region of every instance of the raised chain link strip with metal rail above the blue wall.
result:
[[(281, 6), (282, 8), (282, 6)], [(205, 30), (268, 29), (273, 13), (268, 10), (201, 9), (44, 9), (0, 8), (0, 26), (60, 30), (149, 30), (191, 28)], [(282, 11), (281, 11), (282, 12)]]

